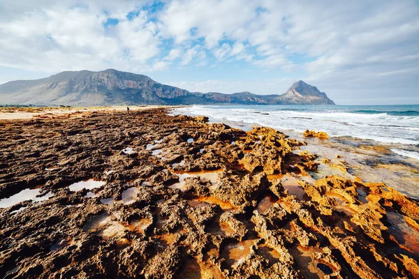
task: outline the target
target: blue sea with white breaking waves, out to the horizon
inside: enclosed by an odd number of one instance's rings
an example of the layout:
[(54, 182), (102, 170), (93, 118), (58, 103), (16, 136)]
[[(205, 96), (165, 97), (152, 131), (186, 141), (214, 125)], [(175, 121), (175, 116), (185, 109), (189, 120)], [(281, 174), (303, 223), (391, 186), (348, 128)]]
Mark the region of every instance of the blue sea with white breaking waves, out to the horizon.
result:
[[(277, 130), (324, 131), (384, 144), (419, 160), (419, 105), (193, 105), (177, 112), (212, 121), (258, 124)], [(400, 148), (399, 146), (402, 146)]]

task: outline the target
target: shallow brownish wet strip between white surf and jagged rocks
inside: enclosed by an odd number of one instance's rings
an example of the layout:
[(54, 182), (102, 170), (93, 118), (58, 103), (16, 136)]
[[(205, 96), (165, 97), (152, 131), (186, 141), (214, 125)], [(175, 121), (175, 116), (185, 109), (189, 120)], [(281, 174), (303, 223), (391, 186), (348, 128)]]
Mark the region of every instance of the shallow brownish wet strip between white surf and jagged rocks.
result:
[[(176, 115), (176, 112), (178, 111), (172, 110), (170, 115)], [(180, 112), (189, 116), (198, 116), (188, 114), (182, 110)], [(229, 126), (246, 131), (251, 130), (252, 127), (263, 126), (260, 123), (220, 121), (211, 117), (209, 120), (210, 123), (227, 123)], [(274, 127), (270, 128), (275, 129)], [(336, 159), (337, 154), (343, 157), (342, 162), (335, 160), (331, 164), (316, 160), (316, 163), (321, 164), (322, 171), (325, 174), (329, 172), (343, 175), (346, 172), (351, 172), (351, 179), (359, 178), (364, 182), (383, 182), (404, 195), (419, 200), (419, 160), (397, 152), (399, 149), (408, 149), (409, 146), (405, 144), (390, 144), (349, 136), (318, 140), (317, 138), (303, 137), (302, 133), (295, 130), (281, 130), (281, 132), (295, 140), (306, 141), (308, 144), (303, 146), (302, 149), (311, 153), (318, 153), (322, 157), (328, 157), (332, 160)], [(341, 165), (347, 171), (339, 172), (337, 165)]]

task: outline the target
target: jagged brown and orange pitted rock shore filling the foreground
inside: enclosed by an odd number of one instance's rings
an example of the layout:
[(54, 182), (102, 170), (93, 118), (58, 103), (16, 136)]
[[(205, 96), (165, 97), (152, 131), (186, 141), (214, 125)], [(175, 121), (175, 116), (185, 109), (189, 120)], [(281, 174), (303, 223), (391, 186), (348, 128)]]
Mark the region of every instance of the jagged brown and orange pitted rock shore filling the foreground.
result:
[[(325, 135), (311, 133), (307, 136)], [(167, 109), (0, 121), (1, 278), (419, 278), (419, 203)]]

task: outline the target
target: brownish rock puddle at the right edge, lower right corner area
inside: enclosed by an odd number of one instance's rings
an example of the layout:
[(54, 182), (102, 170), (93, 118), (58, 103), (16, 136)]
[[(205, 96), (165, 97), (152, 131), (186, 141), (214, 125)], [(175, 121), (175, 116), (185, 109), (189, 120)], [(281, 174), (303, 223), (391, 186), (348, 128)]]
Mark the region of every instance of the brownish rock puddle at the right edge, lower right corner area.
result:
[(388, 232), (397, 240), (397, 242), (404, 246), (403, 248), (419, 255), (419, 232), (417, 229), (409, 226), (402, 214), (388, 211), (387, 220), (391, 226), (388, 227)]

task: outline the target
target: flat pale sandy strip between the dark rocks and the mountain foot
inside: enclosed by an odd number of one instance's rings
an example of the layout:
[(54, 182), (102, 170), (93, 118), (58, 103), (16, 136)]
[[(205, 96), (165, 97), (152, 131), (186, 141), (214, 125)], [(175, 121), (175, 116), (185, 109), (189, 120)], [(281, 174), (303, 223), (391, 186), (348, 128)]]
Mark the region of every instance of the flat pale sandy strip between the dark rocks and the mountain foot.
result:
[[(148, 110), (152, 108), (161, 107), (182, 107), (182, 106), (169, 106), (169, 105), (145, 105), (145, 106), (129, 106), (130, 111), (135, 110)], [(75, 112), (94, 112), (116, 110), (124, 111), (126, 106), (110, 106), (110, 107), (1, 107), (0, 119), (13, 120), (13, 119), (32, 119), (34, 116), (59, 116), (62, 114), (71, 114)]]

